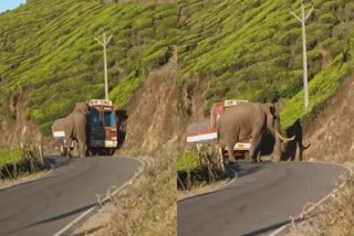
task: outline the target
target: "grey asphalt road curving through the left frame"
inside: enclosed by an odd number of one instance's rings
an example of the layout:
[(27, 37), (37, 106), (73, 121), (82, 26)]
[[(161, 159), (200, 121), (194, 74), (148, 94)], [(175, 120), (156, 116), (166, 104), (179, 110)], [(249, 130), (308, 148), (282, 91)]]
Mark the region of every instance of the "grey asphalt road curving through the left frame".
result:
[(54, 170), (44, 178), (0, 190), (0, 235), (54, 235), (140, 167), (126, 158), (51, 160)]

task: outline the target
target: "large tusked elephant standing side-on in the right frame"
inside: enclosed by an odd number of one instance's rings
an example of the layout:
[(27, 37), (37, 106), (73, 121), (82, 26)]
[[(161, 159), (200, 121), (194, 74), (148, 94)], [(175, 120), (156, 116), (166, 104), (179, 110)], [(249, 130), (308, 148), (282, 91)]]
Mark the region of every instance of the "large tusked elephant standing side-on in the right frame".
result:
[(230, 161), (236, 161), (233, 147), (239, 141), (252, 137), (250, 160), (259, 161), (259, 148), (262, 135), (268, 129), (274, 136), (273, 159), (281, 158), (281, 141), (293, 140), (280, 135), (280, 116), (273, 104), (244, 103), (230, 107), (217, 124), (218, 142), (228, 150)]

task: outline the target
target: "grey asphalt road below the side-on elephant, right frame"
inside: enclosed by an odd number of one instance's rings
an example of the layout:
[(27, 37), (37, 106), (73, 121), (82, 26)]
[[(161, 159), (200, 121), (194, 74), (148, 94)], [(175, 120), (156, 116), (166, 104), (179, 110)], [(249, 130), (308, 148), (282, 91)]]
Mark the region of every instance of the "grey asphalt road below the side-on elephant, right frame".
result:
[(178, 202), (178, 236), (269, 235), (327, 195), (346, 172), (322, 163), (242, 162), (230, 185)]

